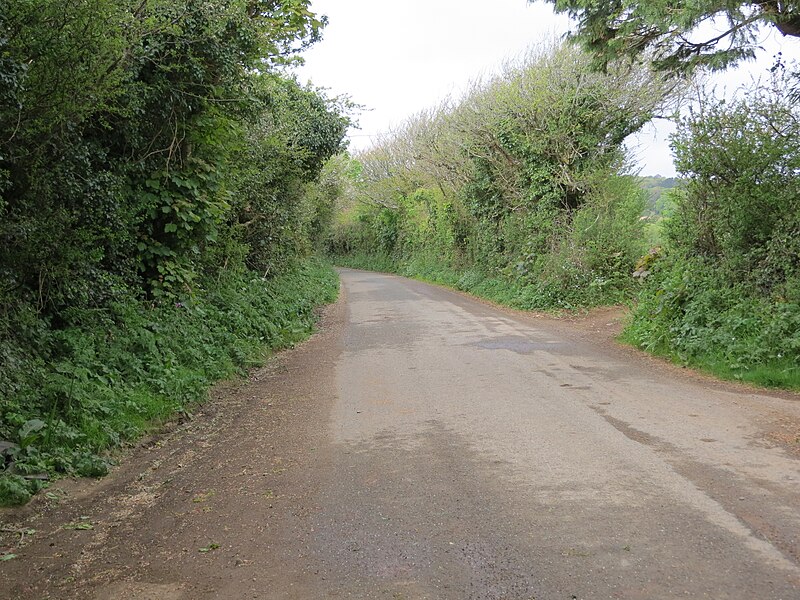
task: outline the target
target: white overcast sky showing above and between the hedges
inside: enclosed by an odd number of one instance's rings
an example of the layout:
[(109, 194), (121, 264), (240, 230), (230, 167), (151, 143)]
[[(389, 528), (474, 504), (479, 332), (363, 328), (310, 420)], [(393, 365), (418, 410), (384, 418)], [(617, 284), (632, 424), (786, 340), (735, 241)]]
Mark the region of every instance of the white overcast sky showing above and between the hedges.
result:
[[(550, 4), (526, 0), (312, 0), (312, 10), (330, 22), (323, 40), (304, 54), (298, 77), (365, 106), (361, 129), (350, 132), (352, 150), (569, 28)], [(765, 32), (769, 50), (759, 62), (716, 82), (733, 87), (763, 73), (781, 44), (784, 56), (800, 58), (796, 40)], [(660, 122), (629, 141), (643, 174), (674, 175), (671, 130)]]

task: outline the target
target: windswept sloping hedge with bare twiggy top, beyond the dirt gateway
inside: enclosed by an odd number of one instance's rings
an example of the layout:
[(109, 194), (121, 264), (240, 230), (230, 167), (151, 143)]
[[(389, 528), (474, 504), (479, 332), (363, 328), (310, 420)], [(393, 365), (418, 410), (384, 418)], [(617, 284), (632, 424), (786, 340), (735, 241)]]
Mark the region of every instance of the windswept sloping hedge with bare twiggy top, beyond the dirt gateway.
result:
[(433, 265), (465, 289), (498, 282), (522, 308), (630, 298), (645, 194), (625, 175), (623, 141), (680, 85), (589, 62), (542, 46), (356, 156), (331, 253), (411, 274)]

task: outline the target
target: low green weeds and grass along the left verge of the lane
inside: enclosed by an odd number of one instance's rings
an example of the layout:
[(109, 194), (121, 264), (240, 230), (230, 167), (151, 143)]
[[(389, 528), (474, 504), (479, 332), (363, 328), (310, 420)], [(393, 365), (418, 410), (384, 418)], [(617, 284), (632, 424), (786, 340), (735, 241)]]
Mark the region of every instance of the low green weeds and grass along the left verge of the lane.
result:
[(184, 303), (75, 312), (35, 351), (4, 342), (14, 369), (0, 373), (0, 506), (27, 502), (44, 474), (104, 475), (110, 450), (308, 337), (337, 294), (333, 268), (309, 259), (269, 280), (224, 274)]

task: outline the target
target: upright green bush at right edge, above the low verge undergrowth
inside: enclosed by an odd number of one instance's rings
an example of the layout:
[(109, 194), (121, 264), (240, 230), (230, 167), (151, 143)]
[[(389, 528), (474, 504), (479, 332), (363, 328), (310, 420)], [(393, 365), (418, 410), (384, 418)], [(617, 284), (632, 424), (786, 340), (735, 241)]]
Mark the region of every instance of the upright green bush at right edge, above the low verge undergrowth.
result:
[(777, 70), (732, 101), (701, 98), (672, 138), (687, 179), (672, 245), (763, 291), (800, 271), (800, 101), (787, 76)]

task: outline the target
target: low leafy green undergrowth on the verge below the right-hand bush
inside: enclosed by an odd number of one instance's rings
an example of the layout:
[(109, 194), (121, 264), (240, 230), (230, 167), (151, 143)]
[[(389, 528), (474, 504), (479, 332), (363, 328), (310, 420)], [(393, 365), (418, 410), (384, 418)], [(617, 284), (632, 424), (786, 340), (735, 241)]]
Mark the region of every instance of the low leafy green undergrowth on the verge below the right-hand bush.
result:
[(765, 297), (699, 258), (659, 263), (621, 341), (720, 379), (800, 390), (800, 303), (789, 286)]

